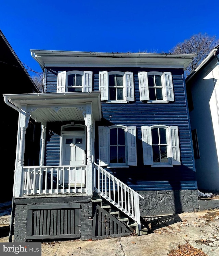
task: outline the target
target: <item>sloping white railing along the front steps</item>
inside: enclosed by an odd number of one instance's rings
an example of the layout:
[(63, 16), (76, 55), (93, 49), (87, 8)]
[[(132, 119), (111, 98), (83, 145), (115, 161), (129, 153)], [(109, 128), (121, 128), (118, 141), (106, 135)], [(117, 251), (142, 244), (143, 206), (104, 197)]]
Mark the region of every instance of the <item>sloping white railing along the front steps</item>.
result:
[(94, 163), (94, 190), (141, 227), (139, 193)]

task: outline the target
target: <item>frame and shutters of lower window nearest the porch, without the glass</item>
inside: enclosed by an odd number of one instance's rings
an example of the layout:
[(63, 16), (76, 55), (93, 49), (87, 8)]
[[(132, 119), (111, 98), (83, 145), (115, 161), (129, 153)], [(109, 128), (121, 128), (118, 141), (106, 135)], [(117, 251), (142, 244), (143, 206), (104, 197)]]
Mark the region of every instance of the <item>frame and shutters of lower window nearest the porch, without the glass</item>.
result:
[[(99, 126), (99, 158), (100, 158), (100, 152), (102, 152), (103, 147), (101, 147), (100, 145), (100, 130), (103, 131), (103, 133), (106, 133), (106, 144), (105, 144), (105, 153), (107, 154), (107, 158), (104, 159), (104, 161), (102, 161), (101, 159), (99, 159), (99, 165), (100, 166), (107, 166), (107, 168), (126, 168), (130, 166), (130, 163), (132, 166), (137, 166), (137, 152), (136, 152), (136, 137), (137, 137), (137, 133), (136, 133), (136, 126), (124, 126), (124, 125), (111, 125), (111, 126)], [(105, 129), (104, 129), (105, 127)], [(126, 156), (126, 163), (110, 163), (110, 129), (114, 129), (114, 128), (120, 128), (120, 129), (124, 129), (125, 130), (125, 156)], [(134, 145), (131, 145), (131, 147), (135, 148), (135, 155), (133, 156), (133, 154), (131, 155), (131, 157), (133, 157), (135, 160), (131, 161), (129, 153), (130, 153), (130, 149), (128, 147), (128, 135), (129, 135), (129, 131), (128, 129), (130, 129), (131, 131), (134, 131), (134, 135), (131, 134), (131, 136), (135, 136), (135, 141), (134, 141)], [(104, 131), (105, 130), (105, 131)], [(103, 142), (103, 140), (101, 141), (101, 143)], [(131, 144), (133, 143), (133, 141), (131, 142)]]

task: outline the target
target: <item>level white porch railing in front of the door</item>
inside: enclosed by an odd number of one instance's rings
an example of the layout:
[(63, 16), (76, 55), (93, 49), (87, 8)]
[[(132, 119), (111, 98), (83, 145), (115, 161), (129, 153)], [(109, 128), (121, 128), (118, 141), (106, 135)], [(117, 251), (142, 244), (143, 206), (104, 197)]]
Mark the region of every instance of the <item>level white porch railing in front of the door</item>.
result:
[(23, 195), (83, 193), (86, 166), (23, 167)]

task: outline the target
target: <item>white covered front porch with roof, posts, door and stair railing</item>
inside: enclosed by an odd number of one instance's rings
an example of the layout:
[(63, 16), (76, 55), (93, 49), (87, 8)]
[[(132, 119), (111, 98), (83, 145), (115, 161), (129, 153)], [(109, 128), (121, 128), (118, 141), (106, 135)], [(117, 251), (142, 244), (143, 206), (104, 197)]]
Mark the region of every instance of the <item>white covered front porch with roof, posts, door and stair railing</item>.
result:
[[(97, 192), (141, 230), (139, 198), (94, 162), (95, 121), (102, 117), (100, 92), (4, 95), (19, 112), (13, 197), (92, 196)], [(41, 123), (38, 165), (24, 165), (30, 119)], [(110, 205), (109, 205), (110, 206)]]

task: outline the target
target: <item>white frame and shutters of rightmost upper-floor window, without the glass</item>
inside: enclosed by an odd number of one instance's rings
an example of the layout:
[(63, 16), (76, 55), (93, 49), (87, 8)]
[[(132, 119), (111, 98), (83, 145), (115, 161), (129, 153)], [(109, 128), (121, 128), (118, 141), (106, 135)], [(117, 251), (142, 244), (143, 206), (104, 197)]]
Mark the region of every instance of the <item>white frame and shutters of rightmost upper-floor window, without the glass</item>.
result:
[[(145, 84), (141, 85), (141, 79), (140, 76), (145, 76)], [(162, 94), (163, 94), (163, 100), (150, 100), (149, 99), (149, 84), (148, 84), (148, 76), (150, 75), (158, 75), (161, 76), (161, 83), (162, 83)], [(170, 86), (166, 85), (165, 76), (169, 75), (171, 77), (170, 80), (168, 80)], [(141, 71), (138, 73), (139, 77), (139, 92), (140, 92), (140, 100), (141, 101), (147, 101), (147, 103), (168, 103), (169, 101), (174, 101), (174, 92), (173, 92), (173, 83), (172, 83), (172, 74), (170, 72), (158, 72), (158, 71)], [(168, 88), (167, 88), (168, 87)], [(141, 93), (141, 88), (143, 88), (146, 92), (143, 96)], [(172, 97), (167, 97), (167, 90), (171, 91), (170, 94), (172, 94)]]

